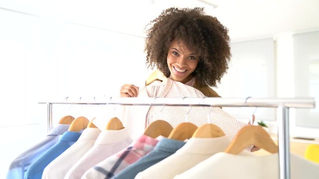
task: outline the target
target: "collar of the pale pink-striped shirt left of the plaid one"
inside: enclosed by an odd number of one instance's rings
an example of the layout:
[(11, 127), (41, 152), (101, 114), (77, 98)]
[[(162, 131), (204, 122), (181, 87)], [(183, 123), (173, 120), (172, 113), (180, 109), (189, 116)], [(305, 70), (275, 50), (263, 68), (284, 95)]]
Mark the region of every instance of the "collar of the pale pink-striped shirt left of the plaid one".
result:
[(96, 144), (112, 144), (130, 138), (127, 128), (121, 130), (104, 130), (96, 139)]

